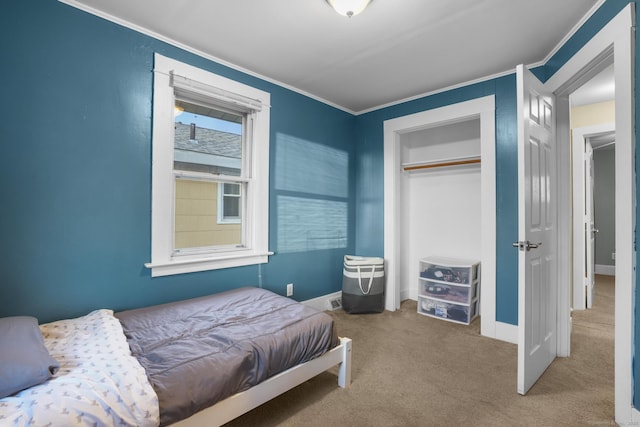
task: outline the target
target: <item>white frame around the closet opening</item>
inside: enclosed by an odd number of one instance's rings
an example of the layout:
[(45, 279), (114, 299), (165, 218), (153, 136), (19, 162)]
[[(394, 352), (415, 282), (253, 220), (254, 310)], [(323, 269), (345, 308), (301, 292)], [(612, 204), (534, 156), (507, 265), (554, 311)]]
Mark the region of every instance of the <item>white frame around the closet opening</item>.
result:
[[(400, 307), (400, 211), (402, 210), (401, 136), (480, 118), (481, 145), (481, 333), (492, 338), (507, 335), (517, 340), (517, 330), (496, 324), (496, 177), (495, 177), (495, 100), (485, 96), (433, 110), (422, 111), (384, 122), (384, 258), (386, 263), (385, 309)], [(509, 325), (511, 326), (511, 325)], [(503, 330), (506, 329), (507, 332)], [(501, 339), (505, 339), (504, 337)]]

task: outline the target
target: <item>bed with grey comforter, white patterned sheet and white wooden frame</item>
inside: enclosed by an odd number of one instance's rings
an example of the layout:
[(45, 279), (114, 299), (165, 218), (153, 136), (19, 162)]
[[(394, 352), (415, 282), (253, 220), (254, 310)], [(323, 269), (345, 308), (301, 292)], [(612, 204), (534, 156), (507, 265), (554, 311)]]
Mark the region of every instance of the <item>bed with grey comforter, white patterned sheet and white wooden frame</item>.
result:
[(351, 380), (330, 316), (257, 288), (39, 330), (49, 378), (0, 399), (0, 425), (222, 425), (334, 366)]

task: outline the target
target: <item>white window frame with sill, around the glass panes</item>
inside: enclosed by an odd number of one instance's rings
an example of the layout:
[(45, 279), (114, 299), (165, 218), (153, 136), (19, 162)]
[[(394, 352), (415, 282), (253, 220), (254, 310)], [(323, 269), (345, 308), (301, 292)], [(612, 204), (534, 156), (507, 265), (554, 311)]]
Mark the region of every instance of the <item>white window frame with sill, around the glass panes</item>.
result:
[[(252, 126), (247, 138), (246, 167), (247, 191), (245, 196), (245, 247), (195, 251), (177, 255), (174, 250), (174, 198), (173, 170), (174, 138), (174, 84), (188, 81), (200, 94), (227, 104), (250, 104)], [(209, 71), (196, 68), (165, 56), (155, 54), (153, 84), (153, 150), (151, 191), (151, 276), (268, 262), (269, 245), (269, 119), (270, 94), (251, 86), (230, 80)]]

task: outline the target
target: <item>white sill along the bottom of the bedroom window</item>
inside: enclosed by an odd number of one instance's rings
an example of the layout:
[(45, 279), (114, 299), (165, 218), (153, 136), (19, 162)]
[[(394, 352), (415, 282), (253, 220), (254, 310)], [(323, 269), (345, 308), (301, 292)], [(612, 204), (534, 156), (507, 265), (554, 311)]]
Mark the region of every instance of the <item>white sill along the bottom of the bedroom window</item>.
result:
[(151, 269), (151, 277), (161, 277), (244, 265), (265, 264), (269, 262), (269, 255), (273, 255), (273, 252), (248, 252), (216, 257), (176, 259), (167, 262), (149, 262), (144, 266)]

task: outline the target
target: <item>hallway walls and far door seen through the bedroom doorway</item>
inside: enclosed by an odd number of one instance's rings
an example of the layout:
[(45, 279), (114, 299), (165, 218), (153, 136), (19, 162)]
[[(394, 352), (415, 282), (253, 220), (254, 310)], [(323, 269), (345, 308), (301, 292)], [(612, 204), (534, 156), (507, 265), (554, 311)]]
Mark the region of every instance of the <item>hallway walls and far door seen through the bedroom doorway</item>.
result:
[[(593, 304), (595, 274), (615, 272), (613, 63), (571, 93), (570, 104), (574, 206), (572, 308), (584, 310)], [(596, 192), (596, 187), (603, 191)]]

